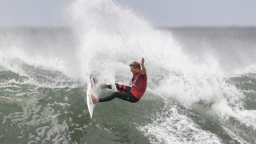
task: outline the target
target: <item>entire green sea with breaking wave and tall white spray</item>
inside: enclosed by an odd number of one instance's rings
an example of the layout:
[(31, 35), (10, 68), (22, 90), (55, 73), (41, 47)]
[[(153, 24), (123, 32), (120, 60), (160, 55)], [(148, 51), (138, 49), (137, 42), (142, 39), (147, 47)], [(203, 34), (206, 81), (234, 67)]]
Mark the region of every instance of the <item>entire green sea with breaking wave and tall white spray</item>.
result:
[[(256, 143), (256, 28), (154, 28), (112, 0), (76, 0), (68, 28), (0, 28), (0, 143)], [(145, 57), (137, 103), (98, 103)]]

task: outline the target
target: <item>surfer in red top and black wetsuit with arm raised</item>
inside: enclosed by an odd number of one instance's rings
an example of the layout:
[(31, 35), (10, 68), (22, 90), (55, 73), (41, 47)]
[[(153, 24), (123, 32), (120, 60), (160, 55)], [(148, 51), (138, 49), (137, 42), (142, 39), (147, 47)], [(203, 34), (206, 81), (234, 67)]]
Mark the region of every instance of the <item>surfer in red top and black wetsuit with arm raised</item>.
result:
[(132, 103), (138, 102), (147, 88), (147, 69), (145, 68), (144, 62), (145, 59), (142, 58), (141, 64), (134, 61), (129, 65), (133, 74), (132, 80), (130, 81), (132, 87), (115, 83), (119, 92), (114, 92), (113, 94), (104, 98), (95, 98), (95, 96), (91, 95), (93, 104), (98, 102), (108, 102), (114, 98), (120, 98)]

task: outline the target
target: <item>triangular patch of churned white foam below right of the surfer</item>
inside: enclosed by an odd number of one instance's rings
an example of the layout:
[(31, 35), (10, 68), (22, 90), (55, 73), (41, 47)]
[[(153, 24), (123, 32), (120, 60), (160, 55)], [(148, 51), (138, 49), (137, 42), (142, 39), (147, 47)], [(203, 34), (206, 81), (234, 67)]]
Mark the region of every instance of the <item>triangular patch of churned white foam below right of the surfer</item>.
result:
[[(140, 126), (139, 129), (150, 137), (153, 144), (221, 144), (217, 135), (200, 129), (200, 126), (194, 124), (187, 116), (178, 114), (177, 110), (172, 107), (171, 115), (167, 117), (160, 116), (153, 119), (152, 124)], [(164, 113), (164, 112), (163, 112)]]

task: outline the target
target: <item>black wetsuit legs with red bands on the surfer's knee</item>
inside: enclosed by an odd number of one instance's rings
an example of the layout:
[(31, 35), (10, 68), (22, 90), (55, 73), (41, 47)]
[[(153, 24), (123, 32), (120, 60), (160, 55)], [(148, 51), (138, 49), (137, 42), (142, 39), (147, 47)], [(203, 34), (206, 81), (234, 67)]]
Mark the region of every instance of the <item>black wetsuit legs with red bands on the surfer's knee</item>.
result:
[(128, 87), (126, 85), (119, 85), (115, 83), (117, 86), (117, 89), (119, 92), (114, 92), (113, 94), (110, 94), (109, 96), (106, 96), (104, 98), (99, 98), (99, 102), (108, 102), (113, 100), (114, 98), (120, 98), (122, 100), (126, 100), (131, 103), (138, 102), (139, 99), (137, 99), (134, 95), (131, 94), (130, 89), (131, 87)]

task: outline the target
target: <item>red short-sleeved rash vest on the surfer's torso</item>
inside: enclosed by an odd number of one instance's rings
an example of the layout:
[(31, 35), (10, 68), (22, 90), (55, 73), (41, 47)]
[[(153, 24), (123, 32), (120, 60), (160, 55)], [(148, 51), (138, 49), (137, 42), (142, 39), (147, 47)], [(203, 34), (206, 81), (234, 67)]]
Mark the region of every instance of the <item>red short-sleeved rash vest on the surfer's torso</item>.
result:
[(131, 93), (137, 98), (141, 99), (147, 88), (147, 75), (142, 74), (142, 70), (139, 70), (137, 74), (132, 77), (132, 89)]

